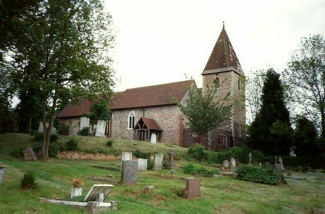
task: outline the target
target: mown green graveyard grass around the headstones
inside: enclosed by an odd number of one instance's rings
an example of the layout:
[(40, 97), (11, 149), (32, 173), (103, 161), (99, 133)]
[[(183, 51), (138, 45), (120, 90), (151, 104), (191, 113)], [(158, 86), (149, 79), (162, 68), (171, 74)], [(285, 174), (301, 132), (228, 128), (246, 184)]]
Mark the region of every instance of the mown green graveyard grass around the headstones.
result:
[[(60, 137), (67, 141), (71, 137)], [(81, 137), (88, 149), (106, 147), (107, 138)], [(94, 182), (87, 176), (105, 177), (119, 180), (119, 171), (94, 168), (92, 165), (118, 166), (120, 161), (68, 160), (50, 159), (49, 161), (24, 161), (10, 157), (11, 149), (30, 144), (30, 136), (26, 134), (0, 135), (0, 161), (5, 166), (2, 186), (0, 187), (0, 213), (84, 213), (85, 211), (69, 206), (41, 203), (38, 198), (69, 198), (72, 175), (81, 176), (84, 180), (83, 196), (87, 194)], [(170, 144), (157, 144), (151, 148), (149, 142), (114, 139), (113, 147), (119, 151), (143, 152), (157, 151), (167, 154), (169, 149), (183, 155), (187, 149)], [(178, 166), (188, 163), (199, 165), (198, 162), (176, 161)], [(208, 167), (208, 166), (206, 166)], [(36, 175), (36, 190), (20, 189), (20, 181), (27, 171)], [(165, 178), (158, 177), (165, 175)], [(185, 179), (190, 175), (181, 169), (139, 171), (137, 183), (133, 186), (114, 185), (107, 200), (116, 200), (118, 210), (114, 213), (323, 213), (325, 212), (325, 181), (324, 174), (298, 173), (293, 176), (305, 177), (307, 181), (287, 180), (287, 185), (278, 186), (257, 184), (231, 179), (230, 177), (200, 177), (201, 198), (185, 199), (180, 197), (185, 187)], [(174, 177), (176, 179), (167, 179)], [(320, 180), (322, 178), (322, 180)], [(153, 185), (154, 189), (143, 192), (145, 186)]]

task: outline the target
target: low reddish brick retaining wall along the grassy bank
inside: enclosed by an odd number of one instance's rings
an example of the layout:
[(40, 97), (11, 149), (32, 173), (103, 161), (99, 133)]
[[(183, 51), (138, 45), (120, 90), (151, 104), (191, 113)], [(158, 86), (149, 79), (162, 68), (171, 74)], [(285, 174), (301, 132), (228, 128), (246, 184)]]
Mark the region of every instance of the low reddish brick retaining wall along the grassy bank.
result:
[(100, 153), (84, 153), (84, 152), (59, 152), (58, 158), (63, 159), (79, 159), (79, 160), (120, 160), (121, 156), (106, 155)]

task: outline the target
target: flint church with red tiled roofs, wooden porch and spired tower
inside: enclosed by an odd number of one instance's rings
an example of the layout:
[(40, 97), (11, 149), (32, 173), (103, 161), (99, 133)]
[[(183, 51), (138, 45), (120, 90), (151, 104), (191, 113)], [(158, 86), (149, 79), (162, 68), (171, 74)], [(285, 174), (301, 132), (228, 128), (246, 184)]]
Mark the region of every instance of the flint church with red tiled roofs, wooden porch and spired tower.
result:
[[(217, 88), (217, 99), (232, 97), (232, 114), (218, 129), (209, 131), (200, 139), (207, 150), (228, 149), (242, 145), (245, 139), (245, 76), (224, 25), (202, 73), (203, 88)], [(184, 102), (193, 80), (126, 89), (117, 92), (109, 109), (112, 117), (107, 135), (150, 141), (155, 133), (158, 142), (170, 142), (183, 147), (198, 139), (186, 126), (186, 117), (175, 100)], [(78, 120), (89, 114), (89, 102), (77, 106), (69, 103), (57, 116), (60, 122), (78, 130)], [(72, 127), (73, 126), (73, 127)], [(77, 131), (75, 131), (77, 132)]]

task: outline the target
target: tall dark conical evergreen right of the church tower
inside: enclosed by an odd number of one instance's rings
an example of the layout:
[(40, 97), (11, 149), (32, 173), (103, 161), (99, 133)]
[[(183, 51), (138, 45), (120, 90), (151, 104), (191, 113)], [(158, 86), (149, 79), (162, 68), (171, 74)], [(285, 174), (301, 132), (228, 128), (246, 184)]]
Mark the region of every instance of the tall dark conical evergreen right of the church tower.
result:
[(261, 110), (248, 129), (247, 144), (265, 154), (287, 155), (291, 145), (289, 112), (280, 75), (272, 68), (267, 70), (261, 101)]

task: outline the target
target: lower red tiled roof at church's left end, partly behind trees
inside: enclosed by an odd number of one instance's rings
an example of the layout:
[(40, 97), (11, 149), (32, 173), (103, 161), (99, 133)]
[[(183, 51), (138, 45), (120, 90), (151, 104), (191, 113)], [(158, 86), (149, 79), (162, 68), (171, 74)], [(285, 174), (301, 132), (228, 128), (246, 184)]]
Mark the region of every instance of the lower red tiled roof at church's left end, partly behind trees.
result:
[(80, 99), (75, 104), (73, 104), (73, 101), (70, 101), (56, 117), (81, 117), (84, 114), (90, 114), (90, 105), (91, 103), (88, 99)]

